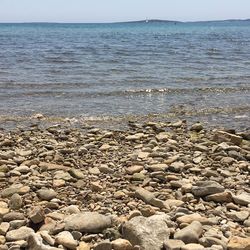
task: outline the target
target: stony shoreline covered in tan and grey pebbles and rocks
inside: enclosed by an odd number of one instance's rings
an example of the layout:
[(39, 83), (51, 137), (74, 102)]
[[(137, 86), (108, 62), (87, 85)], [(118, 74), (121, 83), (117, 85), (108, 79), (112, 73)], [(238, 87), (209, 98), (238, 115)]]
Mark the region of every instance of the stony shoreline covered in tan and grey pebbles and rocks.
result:
[(0, 132), (0, 250), (250, 249), (250, 131), (128, 127)]

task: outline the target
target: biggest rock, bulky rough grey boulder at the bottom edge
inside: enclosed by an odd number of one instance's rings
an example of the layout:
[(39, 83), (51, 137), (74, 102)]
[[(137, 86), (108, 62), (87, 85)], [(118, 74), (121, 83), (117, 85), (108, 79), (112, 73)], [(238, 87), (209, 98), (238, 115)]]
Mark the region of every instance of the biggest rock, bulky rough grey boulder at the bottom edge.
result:
[(122, 228), (123, 238), (132, 245), (139, 245), (141, 250), (161, 250), (163, 242), (169, 239), (166, 214), (151, 217), (137, 216), (126, 222)]

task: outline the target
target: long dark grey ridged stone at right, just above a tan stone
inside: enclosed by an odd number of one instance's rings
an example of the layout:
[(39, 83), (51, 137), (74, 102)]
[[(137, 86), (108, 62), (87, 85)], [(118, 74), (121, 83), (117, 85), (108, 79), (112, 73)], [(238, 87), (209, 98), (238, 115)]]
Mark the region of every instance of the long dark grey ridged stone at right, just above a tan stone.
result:
[(192, 187), (192, 193), (198, 197), (222, 193), (224, 190), (224, 187), (215, 181), (199, 181)]

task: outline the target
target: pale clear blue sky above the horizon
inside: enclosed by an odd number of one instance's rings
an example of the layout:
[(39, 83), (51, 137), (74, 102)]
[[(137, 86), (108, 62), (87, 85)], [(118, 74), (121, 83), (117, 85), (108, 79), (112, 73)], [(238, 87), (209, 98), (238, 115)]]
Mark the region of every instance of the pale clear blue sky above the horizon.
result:
[(0, 0), (0, 22), (250, 18), (250, 0)]

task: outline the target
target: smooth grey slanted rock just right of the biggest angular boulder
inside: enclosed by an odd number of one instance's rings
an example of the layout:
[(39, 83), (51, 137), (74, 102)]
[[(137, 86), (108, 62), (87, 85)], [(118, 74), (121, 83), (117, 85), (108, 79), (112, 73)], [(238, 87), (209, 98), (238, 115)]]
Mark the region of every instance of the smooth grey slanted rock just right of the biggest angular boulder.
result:
[(202, 235), (202, 225), (198, 221), (193, 221), (187, 227), (184, 227), (180, 231), (174, 234), (174, 238), (177, 240), (182, 240), (184, 243), (196, 243), (199, 241)]

